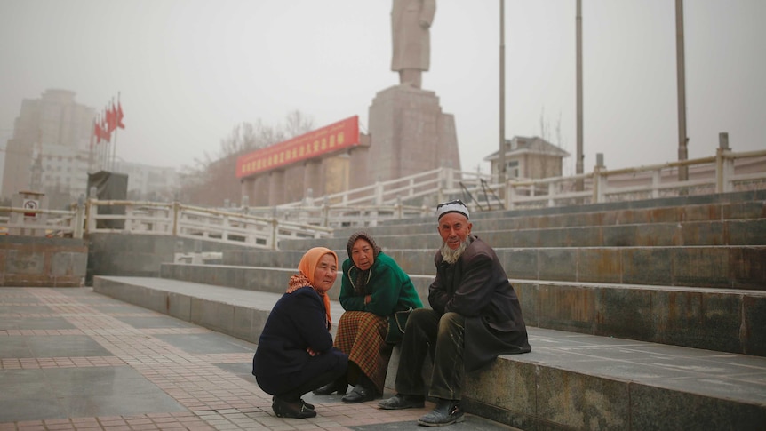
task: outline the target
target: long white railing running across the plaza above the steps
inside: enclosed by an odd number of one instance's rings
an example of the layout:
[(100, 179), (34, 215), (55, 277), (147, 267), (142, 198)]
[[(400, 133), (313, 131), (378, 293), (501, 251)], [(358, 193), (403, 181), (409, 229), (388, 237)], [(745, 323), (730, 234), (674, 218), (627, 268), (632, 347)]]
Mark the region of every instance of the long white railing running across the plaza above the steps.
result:
[[(679, 170), (688, 172), (679, 180)], [(472, 211), (594, 204), (766, 188), (766, 150), (542, 180), (508, 180), (449, 168), (276, 207), (216, 210), (179, 203), (89, 199), (71, 211), (0, 208), (0, 233), (67, 235), (120, 232), (176, 235), (276, 249), (280, 240), (322, 238), (338, 227), (374, 227), (388, 219), (425, 217), (436, 202), (460, 197)], [(498, 197), (500, 196), (500, 197)], [(407, 203), (407, 204), (403, 204)], [(494, 205), (494, 208), (492, 208)], [(42, 214), (36, 217), (36, 214)]]

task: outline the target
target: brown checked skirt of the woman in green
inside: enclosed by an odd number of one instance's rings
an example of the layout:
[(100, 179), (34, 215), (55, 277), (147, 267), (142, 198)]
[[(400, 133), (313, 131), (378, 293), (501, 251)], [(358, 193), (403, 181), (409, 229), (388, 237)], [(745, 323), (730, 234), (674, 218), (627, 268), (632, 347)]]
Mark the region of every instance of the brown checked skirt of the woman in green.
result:
[[(379, 394), (383, 393), (391, 358), (391, 347), (384, 338), (388, 329), (388, 318), (366, 311), (347, 311), (340, 316), (335, 334), (335, 347), (348, 355), (348, 360), (375, 384)], [(348, 382), (355, 384), (356, 376), (349, 368)]]

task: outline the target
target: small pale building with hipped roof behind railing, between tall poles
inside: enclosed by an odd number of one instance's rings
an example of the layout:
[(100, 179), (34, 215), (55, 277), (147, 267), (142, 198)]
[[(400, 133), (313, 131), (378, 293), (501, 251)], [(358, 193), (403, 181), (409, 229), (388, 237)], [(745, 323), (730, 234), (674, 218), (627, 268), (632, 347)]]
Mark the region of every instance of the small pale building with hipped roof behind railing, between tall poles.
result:
[[(491, 174), (498, 178), (499, 151), (484, 157), (490, 162)], [(515, 136), (506, 140), (506, 178), (534, 180), (563, 175), (563, 158), (570, 154), (554, 144), (533, 136)]]

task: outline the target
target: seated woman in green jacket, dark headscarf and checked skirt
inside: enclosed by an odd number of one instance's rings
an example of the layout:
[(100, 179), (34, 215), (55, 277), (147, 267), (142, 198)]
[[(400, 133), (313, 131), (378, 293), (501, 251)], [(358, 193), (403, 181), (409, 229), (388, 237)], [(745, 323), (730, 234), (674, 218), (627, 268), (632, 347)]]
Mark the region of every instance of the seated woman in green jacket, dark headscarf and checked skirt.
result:
[(340, 316), (335, 347), (348, 355), (347, 375), (314, 391), (346, 394), (344, 403), (363, 403), (383, 394), (391, 347), (386, 343), (388, 317), (396, 311), (423, 307), (410, 276), (394, 259), (380, 251), (366, 232), (348, 239), (348, 259), (340, 283)]

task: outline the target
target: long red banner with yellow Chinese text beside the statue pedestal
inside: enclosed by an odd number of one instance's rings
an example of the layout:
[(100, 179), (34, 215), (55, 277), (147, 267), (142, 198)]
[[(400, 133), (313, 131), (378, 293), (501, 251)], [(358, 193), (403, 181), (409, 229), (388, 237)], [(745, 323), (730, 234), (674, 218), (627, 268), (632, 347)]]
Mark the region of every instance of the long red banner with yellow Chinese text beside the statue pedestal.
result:
[(236, 178), (271, 171), (288, 164), (359, 145), (359, 116), (261, 148), (236, 159)]

